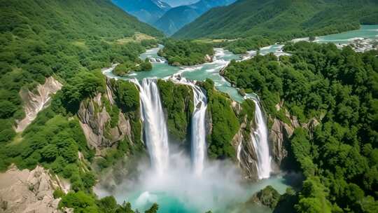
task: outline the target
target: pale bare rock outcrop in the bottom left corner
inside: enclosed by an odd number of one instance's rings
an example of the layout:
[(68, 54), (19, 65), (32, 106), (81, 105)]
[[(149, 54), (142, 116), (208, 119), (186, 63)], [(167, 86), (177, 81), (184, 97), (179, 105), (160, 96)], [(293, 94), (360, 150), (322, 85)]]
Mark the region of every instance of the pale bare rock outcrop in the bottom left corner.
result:
[(0, 212), (60, 212), (60, 198), (52, 195), (56, 188), (58, 182), (43, 167), (31, 171), (11, 167), (0, 174)]

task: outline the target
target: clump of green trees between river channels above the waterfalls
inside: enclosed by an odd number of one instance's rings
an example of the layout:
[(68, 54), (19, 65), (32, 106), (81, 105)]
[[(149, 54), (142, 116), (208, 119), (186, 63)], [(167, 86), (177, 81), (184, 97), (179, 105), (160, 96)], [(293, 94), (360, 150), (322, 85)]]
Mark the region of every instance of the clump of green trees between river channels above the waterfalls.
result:
[(209, 57), (214, 55), (211, 43), (166, 39), (164, 45), (165, 47), (159, 51), (158, 55), (165, 57), (173, 66), (203, 64), (208, 62), (207, 55)]

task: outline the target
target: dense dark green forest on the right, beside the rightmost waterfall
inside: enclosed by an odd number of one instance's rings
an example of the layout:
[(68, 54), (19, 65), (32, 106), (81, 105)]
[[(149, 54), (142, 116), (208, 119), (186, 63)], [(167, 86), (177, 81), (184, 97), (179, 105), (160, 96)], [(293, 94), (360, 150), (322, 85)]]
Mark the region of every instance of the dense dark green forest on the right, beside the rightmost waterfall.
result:
[[(232, 61), (225, 77), (260, 95), (267, 114), (284, 111), (300, 123), (321, 121), (314, 132), (297, 128), (284, 166), (307, 178), (297, 212), (374, 212), (378, 187), (377, 50), (356, 53), (334, 44), (293, 43), (289, 56), (257, 55)], [(275, 105), (283, 101), (276, 111)], [(270, 120), (271, 121), (271, 120)], [(289, 199), (292, 196), (287, 195)]]

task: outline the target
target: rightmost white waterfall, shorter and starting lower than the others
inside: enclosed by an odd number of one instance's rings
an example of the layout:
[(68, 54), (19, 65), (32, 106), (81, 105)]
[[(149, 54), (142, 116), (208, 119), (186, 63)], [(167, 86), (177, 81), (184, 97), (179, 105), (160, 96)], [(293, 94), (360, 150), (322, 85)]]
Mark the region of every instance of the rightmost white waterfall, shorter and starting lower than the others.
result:
[(270, 156), (269, 156), (269, 144), (268, 144), (268, 130), (267, 123), (265, 122), (264, 115), (260, 107), (260, 103), (253, 99), (255, 102), (255, 132), (251, 133), (253, 147), (257, 152), (257, 168), (258, 179), (269, 178), (270, 176)]

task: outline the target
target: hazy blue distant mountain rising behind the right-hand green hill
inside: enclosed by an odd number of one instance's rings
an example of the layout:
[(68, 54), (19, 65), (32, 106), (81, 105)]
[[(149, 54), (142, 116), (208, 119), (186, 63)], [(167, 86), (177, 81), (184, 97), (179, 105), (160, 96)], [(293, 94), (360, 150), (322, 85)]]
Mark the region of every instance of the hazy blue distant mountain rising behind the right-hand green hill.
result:
[(165, 34), (172, 35), (184, 25), (200, 17), (209, 9), (217, 6), (232, 4), (235, 0), (201, 0), (188, 6), (172, 8), (154, 23), (154, 26), (161, 29)]

